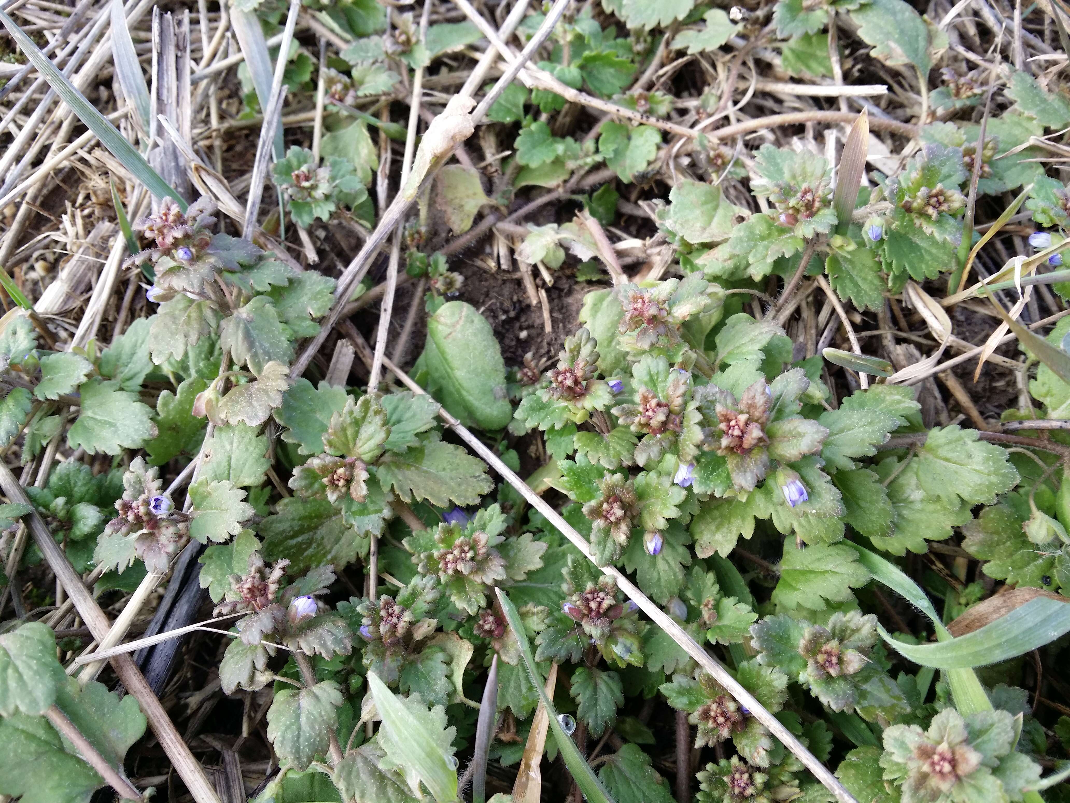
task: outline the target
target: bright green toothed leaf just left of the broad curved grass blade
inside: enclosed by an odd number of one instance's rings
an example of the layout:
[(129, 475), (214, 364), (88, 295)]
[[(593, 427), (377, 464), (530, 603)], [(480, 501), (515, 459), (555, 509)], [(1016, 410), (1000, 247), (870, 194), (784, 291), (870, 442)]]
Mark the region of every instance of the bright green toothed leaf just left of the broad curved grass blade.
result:
[(870, 578), (858, 555), (842, 544), (798, 549), (785, 542), (779, 570), (773, 602), (789, 610), (823, 610), (828, 604), (851, 602), (855, 597), (851, 589), (865, 586)]

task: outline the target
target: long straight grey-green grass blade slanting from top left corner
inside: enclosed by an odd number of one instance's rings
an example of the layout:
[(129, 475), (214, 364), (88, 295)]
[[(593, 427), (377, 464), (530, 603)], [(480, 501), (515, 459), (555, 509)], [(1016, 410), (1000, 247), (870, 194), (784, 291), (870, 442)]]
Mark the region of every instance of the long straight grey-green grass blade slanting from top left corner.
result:
[(0, 22), (3, 22), (7, 32), (11, 33), (18, 44), (19, 49), (26, 54), (26, 57), (37, 69), (42, 77), (56, 90), (56, 94), (96, 135), (96, 138), (101, 140), (101, 145), (107, 148), (111, 152), (111, 155), (118, 158), (123, 167), (129, 170), (131, 175), (140, 181), (150, 193), (160, 199), (174, 198), (182, 211), (185, 212), (185, 199), (179, 197), (178, 192), (169, 186), (158, 172), (152, 169), (134, 146), (127, 142), (126, 138), (119, 133), (119, 130), (104, 115), (97, 111), (93, 104), (86, 100), (86, 96), (67, 80), (63, 73), (56, 69), (56, 65), (49, 61), (47, 56), (41, 52), (41, 48), (33, 43), (33, 40), (27, 35), (26, 31), (19, 28), (15, 24), (15, 20), (2, 11), (0, 11)]

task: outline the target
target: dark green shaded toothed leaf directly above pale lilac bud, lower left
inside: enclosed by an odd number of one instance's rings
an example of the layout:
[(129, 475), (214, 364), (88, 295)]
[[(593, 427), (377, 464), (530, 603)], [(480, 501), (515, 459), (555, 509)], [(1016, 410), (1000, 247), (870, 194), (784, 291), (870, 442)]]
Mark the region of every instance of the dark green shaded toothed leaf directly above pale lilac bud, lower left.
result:
[(277, 509), (257, 527), (264, 560), (288, 559), (290, 571), (300, 574), (328, 564), (340, 570), (367, 554), (367, 535), (346, 524), (327, 500), (291, 497), (280, 499)]

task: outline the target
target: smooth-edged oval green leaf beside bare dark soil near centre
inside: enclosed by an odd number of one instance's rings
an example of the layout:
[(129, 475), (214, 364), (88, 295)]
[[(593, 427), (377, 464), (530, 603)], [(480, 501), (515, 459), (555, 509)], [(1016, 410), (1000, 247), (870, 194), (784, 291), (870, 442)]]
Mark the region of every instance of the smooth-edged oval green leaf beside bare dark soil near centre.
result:
[(421, 369), (428, 392), (465, 426), (501, 429), (513, 418), (498, 338), (472, 305), (449, 301), (428, 319)]

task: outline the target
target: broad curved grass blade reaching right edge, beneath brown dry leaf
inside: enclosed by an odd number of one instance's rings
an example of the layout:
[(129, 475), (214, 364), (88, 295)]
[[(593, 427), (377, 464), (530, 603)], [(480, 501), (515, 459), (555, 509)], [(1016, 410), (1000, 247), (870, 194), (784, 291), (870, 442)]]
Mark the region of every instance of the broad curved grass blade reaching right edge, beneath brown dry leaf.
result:
[(934, 645), (908, 645), (887, 633), (882, 635), (920, 666), (972, 669), (1024, 655), (1066, 633), (1070, 633), (1070, 601), (1038, 596), (973, 633)]

